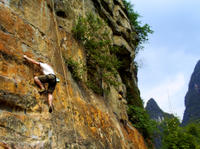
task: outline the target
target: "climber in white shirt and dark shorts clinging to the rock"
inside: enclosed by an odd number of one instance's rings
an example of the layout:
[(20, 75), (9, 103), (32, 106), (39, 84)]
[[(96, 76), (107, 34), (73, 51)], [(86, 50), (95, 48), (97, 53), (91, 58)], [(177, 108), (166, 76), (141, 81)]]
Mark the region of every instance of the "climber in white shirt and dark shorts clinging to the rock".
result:
[[(53, 91), (55, 90), (56, 83), (57, 83), (55, 72), (54, 72), (53, 68), (50, 65), (48, 65), (47, 63), (38, 62), (32, 58), (29, 58), (26, 55), (24, 55), (23, 57), (27, 61), (40, 66), (40, 68), (43, 72), (43, 75), (35, 76), (34, 81), (40, 87), (40, 91), (39, 91), (40, 94), (48, 93), (49, 113), (51, 113), (53, 111), (53, 108), (52, 108)], [(47, 90), (45, 89), (45, 86), (44, 86), (45, 83), (48, 83)]]

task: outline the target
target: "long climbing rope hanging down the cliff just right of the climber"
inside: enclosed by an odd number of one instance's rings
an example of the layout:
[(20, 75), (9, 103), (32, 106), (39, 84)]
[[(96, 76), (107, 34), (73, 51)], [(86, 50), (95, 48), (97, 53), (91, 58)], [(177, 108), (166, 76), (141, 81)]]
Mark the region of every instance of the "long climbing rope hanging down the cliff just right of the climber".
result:
[[(61, 59), (61, 64), (62, 64), (62, 69), (63, 69), (63, 73), (64, 73), (64, 79), (65, 79), (65, 88), (66, 88), (66, 91), (67, 91), (67, 95), (70, 99), (69, 101), (69, 106), (72, 108), (72, 110), (74, 109), (74, 107), (72, 107), (72, 102), (71, 102), (71, 97), (70, 97), (70, 94), (69, 94), (69, 89), (68, 89), (68, 85), (67, 85), (67, 73), (66, 73), (66, 70), (65, 70), (65, 65), (64, 65), (64, 61), (63, 61), (63, 55), (62, 55), (62, 51), (61, 51), (61, 44), (60, 44), (60, 38), (59, 38), (59, 33), (58, 33), (58, 25), (57, 25), (57, 20), (55, 18), (55, 10), (54, 10), (54, 2), (53, 0), (51, 0), (52, 2), (52, 10), (53, 10), (53, 20), (54, 20), (54, 23), (55, 23), (55, 30), (56, 30), (56, 37), (57, 37), (57, 43), (58, 43), (58, 50), (59, 50), (59, 55), (60, 55), (60, 59)], [(55, 50), (55, 49), (54, 49)], [(55, 54), (55, 51), (53, 52), (53, 54)], [(54, 55), (53, 55), (54, 56)], [(76, 129), (75, 129), (75, 120), (74, 120), (74, 116), (73, 116), (73, 111), (72, 111), (72, 121), (73, 121), (73, 129), (74, 129), (74, 132), (75, 132), (75, 139), (76, 139), (76, 145), (78, 146), (78, 149), (79, 149), (79, 145), (77, 143), (77, 132), (76, 132)]]

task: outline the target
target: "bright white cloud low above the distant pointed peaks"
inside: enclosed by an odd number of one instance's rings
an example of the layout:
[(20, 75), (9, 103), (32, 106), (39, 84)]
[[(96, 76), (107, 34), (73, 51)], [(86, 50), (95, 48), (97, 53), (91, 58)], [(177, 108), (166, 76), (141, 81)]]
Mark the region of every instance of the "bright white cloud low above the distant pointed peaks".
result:
[[(180, 110), (177, 111), (176, 108), (174, 109), (178, 105), (173, 105), (173, 100), (177, 100), (176, 97), (180, 92), (182, 93), (185, 84), (185, 77), (182, 73), (171, 77), (168, 76), (168, 78), (153, 88), (146, 89), (142, 94), (142, 98), (147, 100), (154, 98), (162, 110), (170, 113), (175, 112), (179, 117), (182, 117)], [(180, 105), (182, 106), (182, 104)]]

